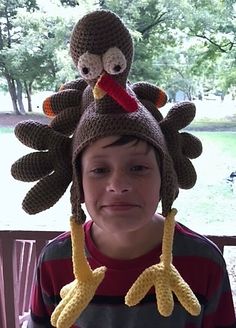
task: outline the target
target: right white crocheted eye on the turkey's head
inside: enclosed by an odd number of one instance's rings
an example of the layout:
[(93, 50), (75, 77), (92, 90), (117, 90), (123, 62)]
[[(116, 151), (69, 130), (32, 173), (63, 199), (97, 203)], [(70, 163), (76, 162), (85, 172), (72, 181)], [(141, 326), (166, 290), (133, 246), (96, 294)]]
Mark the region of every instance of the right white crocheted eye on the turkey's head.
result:
[(116, 47), (108, 49), (102, 56), (102, 61), (105, 71), (112, 75), (124, 72), (127, 66), (124, 54)]

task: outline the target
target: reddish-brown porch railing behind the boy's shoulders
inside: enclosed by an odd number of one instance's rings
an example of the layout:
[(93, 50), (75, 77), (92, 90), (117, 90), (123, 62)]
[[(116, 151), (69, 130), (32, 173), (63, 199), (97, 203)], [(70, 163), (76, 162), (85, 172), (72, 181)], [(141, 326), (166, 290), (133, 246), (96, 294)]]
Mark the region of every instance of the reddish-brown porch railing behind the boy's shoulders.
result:
[[(42, 247), (60, 231), (0, 231), (0, 327), (25, 327), (36, 263)], [(224, 253), (236, 236), (207, 236)]]

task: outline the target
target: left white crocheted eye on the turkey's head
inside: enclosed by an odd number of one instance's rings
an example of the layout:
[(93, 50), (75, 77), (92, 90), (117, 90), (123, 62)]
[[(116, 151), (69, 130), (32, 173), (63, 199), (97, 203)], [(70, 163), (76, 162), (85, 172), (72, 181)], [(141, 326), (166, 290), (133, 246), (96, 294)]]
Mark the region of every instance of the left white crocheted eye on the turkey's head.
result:
[(85, 80), (96, 79), (103, 70), (100, 56), (90, 54), (89, 52), (79, 57), (77, 67), (80, 75)]

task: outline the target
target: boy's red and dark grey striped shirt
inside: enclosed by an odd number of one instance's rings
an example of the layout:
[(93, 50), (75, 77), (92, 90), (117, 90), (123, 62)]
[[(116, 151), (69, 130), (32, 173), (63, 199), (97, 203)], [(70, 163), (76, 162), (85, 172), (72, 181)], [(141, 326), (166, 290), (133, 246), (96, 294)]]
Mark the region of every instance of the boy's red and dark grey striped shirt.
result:
[[(104, 256), (94, 245), (84, 225), (86, 255), (94, 269), (105, 265), (105, 278), (73, 328), (236, 328), (236, 319), (226, 264), (217, 247), (182, 224), (175, 227), (173, 264), (190, 285), (201, 304), (199, 316), (191, 316), (174, 297), (170, 317), (161, 316), (154, 289), (136, 306), (124, 304), (124, 297), (140, 273), (159, 262), (161, 245), (132, 260)], [(31, 303), (29, 328), (52, 327), (50, 316), (60, 301), (60, 289), (74, 280), (71, 238), (66, 232), (42, 251)]]

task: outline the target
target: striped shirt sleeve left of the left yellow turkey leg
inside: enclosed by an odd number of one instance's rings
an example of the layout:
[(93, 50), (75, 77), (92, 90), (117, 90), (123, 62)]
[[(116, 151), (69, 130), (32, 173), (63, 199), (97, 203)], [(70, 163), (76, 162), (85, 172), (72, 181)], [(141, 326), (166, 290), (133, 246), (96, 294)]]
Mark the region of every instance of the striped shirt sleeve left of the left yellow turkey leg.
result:
[(63, 233), (41, 251), (31, 296), (28, 328), (51, 328), (51, 315), (60, 303), (60, 290), (74, 280), (70, 233)]

